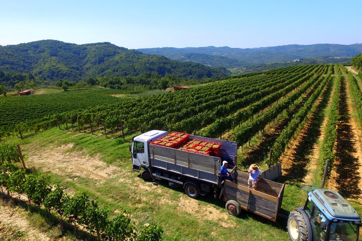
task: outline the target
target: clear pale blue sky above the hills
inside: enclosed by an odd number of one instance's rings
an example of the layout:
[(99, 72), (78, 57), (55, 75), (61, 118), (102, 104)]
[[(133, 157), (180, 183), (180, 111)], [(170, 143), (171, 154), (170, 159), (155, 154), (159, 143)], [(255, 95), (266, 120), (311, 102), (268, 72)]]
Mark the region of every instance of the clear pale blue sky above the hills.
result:
[(362, 43), (362, 0), (0, 0), (0, 45), (124, 48)]

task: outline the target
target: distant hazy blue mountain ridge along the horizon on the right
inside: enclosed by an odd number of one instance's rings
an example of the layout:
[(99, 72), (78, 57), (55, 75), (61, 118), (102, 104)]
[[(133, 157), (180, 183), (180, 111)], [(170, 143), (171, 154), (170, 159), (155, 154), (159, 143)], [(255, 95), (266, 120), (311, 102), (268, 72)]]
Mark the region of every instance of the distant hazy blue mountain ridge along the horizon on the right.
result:
[(163, 55), (180, 61), (193, 61), (208, 66), (235, 68), (255, 67), (255, 65), (276, 62), (291, 62), (296, 59), (308, 59), (315, 63), (348, 61), (353, 56), (362, 53), (362, 44), (285, 45), (263, 48), (210, 46), (199, 48), (140, 48), (138, 50), (143, 53)]

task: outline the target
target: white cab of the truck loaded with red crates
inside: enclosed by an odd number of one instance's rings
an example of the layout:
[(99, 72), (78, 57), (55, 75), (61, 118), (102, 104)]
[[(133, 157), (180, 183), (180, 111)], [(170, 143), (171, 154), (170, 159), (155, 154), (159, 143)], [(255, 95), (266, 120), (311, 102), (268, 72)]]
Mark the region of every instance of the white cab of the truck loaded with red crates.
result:
[(163, 137), (166, 131), (152, 130), (132, 138), (132, 144), (129, 145), (129, 151), (132, 154), (133, 170), (139, 172), (141, 167), (147, 169), (150, 165), (149, 143)]

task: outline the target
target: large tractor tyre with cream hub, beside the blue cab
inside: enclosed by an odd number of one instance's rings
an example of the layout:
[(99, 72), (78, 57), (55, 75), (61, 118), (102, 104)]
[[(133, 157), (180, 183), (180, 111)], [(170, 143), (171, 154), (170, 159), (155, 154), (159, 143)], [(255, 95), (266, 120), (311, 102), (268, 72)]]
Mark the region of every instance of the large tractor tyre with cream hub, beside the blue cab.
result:
[(291, 241), (308, 240), (308, 230), (302, 214), (299, 212), (290, 212), (287, 224), (288, 234)]

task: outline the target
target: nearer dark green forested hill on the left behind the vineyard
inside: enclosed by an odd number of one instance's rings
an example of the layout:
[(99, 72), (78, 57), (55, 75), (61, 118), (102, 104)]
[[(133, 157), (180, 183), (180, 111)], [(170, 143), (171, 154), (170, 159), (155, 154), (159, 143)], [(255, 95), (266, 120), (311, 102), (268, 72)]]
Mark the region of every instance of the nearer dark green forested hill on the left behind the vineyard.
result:
[(55, 40), (0, 46), (0, 71), (30, 73), (44, 80), (166, 74), (187, 79), (230, 75), (222, 67), (180, 62), (111, 43), (76, 45)]

